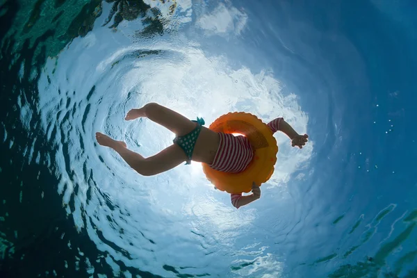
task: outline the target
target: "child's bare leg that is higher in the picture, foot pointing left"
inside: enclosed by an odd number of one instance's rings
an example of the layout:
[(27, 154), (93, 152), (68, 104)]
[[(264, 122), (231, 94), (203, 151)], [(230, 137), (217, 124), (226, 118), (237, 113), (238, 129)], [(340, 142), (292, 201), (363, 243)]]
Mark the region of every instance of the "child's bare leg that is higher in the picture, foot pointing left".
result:
[(183, 115), (159, 104), (147, 104), (142, 108), (132, 109), (127, 113), (125, 120), (135, 120), (138, 117), (147, 117), (149, 120), (165, 126), (167, 129), (183, 136), (195, 129), (196, 123)]

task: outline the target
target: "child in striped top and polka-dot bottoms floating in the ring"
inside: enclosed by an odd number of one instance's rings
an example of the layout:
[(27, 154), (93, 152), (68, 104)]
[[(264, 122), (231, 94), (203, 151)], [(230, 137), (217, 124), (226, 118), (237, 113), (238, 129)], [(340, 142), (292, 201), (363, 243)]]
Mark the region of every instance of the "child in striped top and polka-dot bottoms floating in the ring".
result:
[[(175, 133), (177, 137), (174, 144), (154, 156), (144, 158), (127, 149), (125, 142), (113, 140), (99, 132), (96, 133), (96, 138), (100, 145), (114, 149), (133, 170), (143, 176), (171, 170), (184, 161), (187, 164), (191, 161), (206, 163), (221, 172), (239, 173), (243, 172), (254, 158), (254, 149), (245, 136), (217, 133), (202, 126), (202, 119), (191, 121), (169, 108), (154, 103), (132, 109), (127, 113), (125, 120), (135, 120), (138, 117), (147, 117)], [(272, 120), (268, 126), (272, 133), (284, 132), (292, 140), (293, 147), (302, 149), (308, 141), (309, 136), (295, 132), (282, 117)], [(261, 188), (253, 184), (252, 195), (231, 194), (231, 203), (239, 208), (259, 197)]]

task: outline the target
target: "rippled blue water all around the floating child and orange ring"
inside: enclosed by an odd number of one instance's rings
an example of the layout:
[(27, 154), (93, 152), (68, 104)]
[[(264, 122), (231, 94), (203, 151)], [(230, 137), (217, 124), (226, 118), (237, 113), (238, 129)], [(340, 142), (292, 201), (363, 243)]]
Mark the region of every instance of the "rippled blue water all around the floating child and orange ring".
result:
[[(1, 273), (417, 277), (417, 3), (149, 1), (160, 15), (108, 28), (113, 4), (95, 2), (73, 40), (90, 1), (38, 1), (31, 28), (19, 22), (35, 2), (19, 2), (1, 38)], [(198, 163), (141, 177), (95, 143), (101, 131), (144, 156), (170, 145), (163, 127), (123, 120), (149, 101), (207, 123), (283, 116), (309, 145), (277, 134), (272, 179), (236, 210)]]

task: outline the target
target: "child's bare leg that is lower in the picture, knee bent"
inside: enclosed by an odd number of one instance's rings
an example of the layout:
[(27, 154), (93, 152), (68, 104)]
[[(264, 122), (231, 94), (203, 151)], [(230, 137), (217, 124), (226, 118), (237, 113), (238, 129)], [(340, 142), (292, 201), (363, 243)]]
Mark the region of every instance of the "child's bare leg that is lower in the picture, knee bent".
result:
[(162, 152), (148, 158), (144, 158), (136, 152), (126, 148), (122, 141), (113, 140), (103, 133), (96, 133), (97, 142), (100, 145), (114, 149), (133, 170), (142, 176), (153, 176), (177, 167), (186, 161), (187, 156), (178, 145), (171, 145)]

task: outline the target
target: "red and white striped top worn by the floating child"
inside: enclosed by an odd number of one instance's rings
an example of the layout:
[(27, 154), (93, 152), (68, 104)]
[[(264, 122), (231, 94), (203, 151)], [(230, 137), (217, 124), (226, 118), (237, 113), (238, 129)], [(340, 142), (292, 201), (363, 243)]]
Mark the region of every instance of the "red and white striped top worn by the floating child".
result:
[[(282, 117), (272, 120), (268, 126), (272, 133), (279, 131)], [(243, 172), (254, 158), (254, 149), (245, 136), (219, 133), (220, 145), (213, 164), (209, 165), (214, 170), (239, 173)]]

